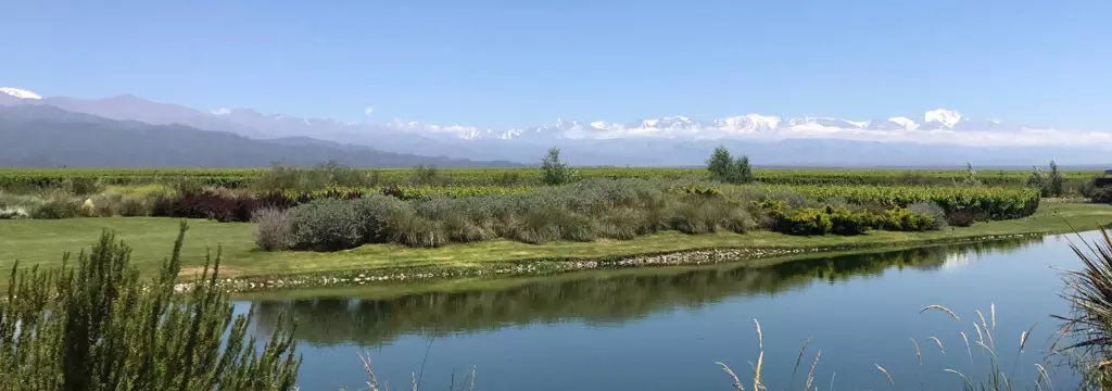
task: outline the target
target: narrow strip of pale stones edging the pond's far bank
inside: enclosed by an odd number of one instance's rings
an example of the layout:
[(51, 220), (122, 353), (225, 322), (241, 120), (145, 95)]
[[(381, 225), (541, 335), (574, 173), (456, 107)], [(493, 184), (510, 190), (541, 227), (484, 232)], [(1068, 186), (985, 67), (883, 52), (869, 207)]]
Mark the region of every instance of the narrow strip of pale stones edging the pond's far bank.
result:
[[(544, 275), (607, 268), (620, 269), (664, 265), (701, 265), (758, 259), (786, 258), (794, 255), (817, 255), (834, 252), (867, 252), (885, 249), (897, 250), (916, 247), (1032, 238), (1051, 233), (1053, 232), (990, 234), (934, 240), (915, 240), (895, 243), (874, 242), (814, 248), (738, 247), (691, 249), (620, 257), (604, 257), (596, 259), (526, 259), (520, 261), (490, 262), (489, 264), (455, 268), (411, 267), (371, 270), (356, 269), (347, 271), (227, 278), (220, 279), (219, 283), (231, 292), (255, 292), (278, 289), (366, 285), (386, 282), (419, 282), (464, 278)], [(178, 291), (183, 291), (189, 289), (191, 284), (192, 283), (179, 283), (175, 288)]]

